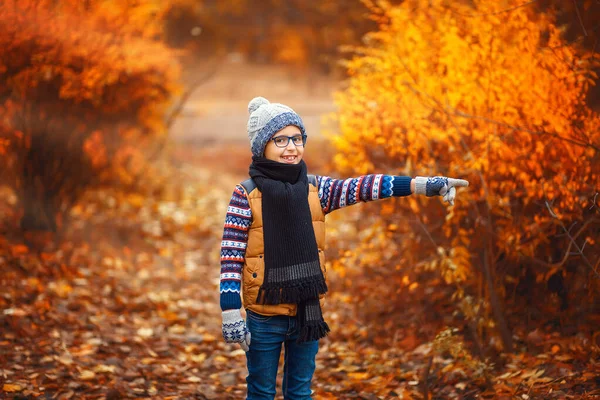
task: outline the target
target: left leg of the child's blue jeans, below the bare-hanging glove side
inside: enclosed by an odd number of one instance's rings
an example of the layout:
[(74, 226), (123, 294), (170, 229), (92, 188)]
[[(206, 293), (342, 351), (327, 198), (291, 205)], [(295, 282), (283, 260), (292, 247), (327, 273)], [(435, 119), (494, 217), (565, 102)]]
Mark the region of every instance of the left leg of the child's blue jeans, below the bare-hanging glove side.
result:
[(288, 322), (284, 317), (265, 317), (247, 313), (246, 325), (252, 335), (246, 353), (248, 400), (275, 398), (277, 367)]

